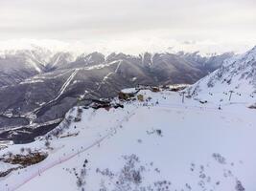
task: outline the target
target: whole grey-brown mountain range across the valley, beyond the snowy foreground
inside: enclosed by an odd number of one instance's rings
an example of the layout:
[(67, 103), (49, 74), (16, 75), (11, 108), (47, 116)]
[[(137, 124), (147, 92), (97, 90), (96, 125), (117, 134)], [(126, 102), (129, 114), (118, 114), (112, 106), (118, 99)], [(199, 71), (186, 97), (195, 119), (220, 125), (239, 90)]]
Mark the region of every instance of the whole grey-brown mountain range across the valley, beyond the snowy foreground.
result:
[(81, 54), (35, 50), (0, 55), (0, 138), (31, 141), (54, 128), (79, 98), (112, 97), (137, 84), (196, 82), (232, 53)]

